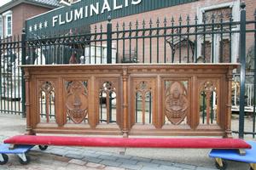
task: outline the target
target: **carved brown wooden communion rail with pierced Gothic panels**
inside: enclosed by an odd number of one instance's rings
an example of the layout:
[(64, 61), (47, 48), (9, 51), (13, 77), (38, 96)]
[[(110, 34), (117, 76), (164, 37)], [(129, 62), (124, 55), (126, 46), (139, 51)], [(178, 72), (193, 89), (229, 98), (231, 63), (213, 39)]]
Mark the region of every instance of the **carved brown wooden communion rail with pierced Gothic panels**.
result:
[(237, 66), (24, 65), (26, 130), (229, 138)]

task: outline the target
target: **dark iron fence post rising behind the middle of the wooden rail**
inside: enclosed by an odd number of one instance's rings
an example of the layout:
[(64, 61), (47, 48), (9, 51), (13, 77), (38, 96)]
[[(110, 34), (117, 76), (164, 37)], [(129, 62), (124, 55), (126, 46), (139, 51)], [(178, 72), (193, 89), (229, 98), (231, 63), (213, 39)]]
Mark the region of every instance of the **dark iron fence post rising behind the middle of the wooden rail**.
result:
[(112, 23), (110, 16), (108, 16), (107, 26), (107, 63), (112, 63)]

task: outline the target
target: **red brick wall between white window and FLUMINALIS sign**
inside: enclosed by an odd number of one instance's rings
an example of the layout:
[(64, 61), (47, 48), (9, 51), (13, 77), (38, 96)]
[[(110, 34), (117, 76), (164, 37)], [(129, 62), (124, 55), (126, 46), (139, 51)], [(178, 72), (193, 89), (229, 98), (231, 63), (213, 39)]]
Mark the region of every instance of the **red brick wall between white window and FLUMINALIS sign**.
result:
[(21, 3), (11, 10), (13, 11), (13, 35), (20, 35), (22, 28), (24, 28), (25, 20), (32, 16), (43, 14), (50, 9)]

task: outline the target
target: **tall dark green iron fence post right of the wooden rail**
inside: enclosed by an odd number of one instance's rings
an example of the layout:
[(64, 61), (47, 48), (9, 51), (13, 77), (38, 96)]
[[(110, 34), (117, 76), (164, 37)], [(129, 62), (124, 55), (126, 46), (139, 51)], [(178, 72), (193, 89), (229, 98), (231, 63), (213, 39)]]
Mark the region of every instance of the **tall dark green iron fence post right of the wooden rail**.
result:
[(240, 112), (239, 112), (239, 138), (244, 138), (244, 102), (246, 82), (246, 4), (241, 3), (240, 16)]

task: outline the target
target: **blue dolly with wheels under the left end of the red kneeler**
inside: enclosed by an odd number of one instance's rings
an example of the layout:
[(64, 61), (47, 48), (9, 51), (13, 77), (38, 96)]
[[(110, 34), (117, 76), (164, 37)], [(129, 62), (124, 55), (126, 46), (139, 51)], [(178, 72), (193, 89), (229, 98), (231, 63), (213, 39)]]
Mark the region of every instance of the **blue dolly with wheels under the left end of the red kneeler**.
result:
[(10, 149), (11, 144), (0, 145), (0, 165), (4, 165), (9, 161), (7, 154), (15, 154), (19, 157), (21, 164), (26, 165), (30, 162), (30, 157), (26, 153), (34, 147), (34, 145), (15, 145), (15, 149)]

